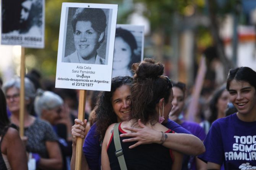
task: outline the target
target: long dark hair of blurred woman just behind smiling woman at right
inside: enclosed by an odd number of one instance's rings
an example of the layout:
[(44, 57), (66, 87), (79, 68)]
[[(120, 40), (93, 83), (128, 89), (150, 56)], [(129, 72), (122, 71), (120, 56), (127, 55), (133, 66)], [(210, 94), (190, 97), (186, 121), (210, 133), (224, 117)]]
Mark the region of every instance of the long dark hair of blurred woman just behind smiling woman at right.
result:
[(225, 87), (222, 86), (219, 89), (217, 89), (217, 91), (214, 92), (214, 94), (212, 95), (212, 98), (209, 102), (209, 109), (211, 111), (211, 116), (209, 117), (209, 122), (212, 124), (212, 122), (214, 122), (217, 119), (218, 116), (218, 108), (216, 106), (220, 96), (222, 95), (222, 93), (225, 91)]

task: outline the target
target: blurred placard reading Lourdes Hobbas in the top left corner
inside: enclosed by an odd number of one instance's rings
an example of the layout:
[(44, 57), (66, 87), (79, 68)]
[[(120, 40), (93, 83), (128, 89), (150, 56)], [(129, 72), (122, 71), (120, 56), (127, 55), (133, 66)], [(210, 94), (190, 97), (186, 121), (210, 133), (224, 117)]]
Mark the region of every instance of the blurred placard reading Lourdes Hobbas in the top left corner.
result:
[(1, 44), (44, 48), (45, 0), (2, 0)]

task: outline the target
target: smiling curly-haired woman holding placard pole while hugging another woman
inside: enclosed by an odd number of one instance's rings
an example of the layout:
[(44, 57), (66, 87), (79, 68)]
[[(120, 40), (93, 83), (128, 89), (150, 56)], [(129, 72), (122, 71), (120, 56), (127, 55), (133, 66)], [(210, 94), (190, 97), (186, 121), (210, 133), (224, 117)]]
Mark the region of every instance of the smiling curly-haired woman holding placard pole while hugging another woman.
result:
[[(107, 128), (113, 123), (125, 121), (130, 118), (132, 86), (133, 79), (129, 76), (118, 76), (112, 78), (111, 91), (101, 92), (99, 94), (99, 100), (97, 101), (95, 109), (96, 122), (92, 125), (86, 138), (86, 120), (83, 122), (79, 119), (75, 120), (75, 125), (72, 126), (72, 170), (75, 169), (77, 137), (85, 138), (81, 161), (82, 169), (101, 169), (102, 140), (104, 139)], [(167, 134), (168, 138), (165, 140), (163, 144), (164, 146), (192, 155), (198, 155), (204, 152), (205, 149), (201, 140), (194, 135), (191, 135), (190, 132), (179, 126), (177, 123), (170, 121), (170, 119), (168, 119), (168, 114), (164, 116), (167, 116), (167, 118), (164, 120), (164, 126), (177, 132)], [(162, 132), (152, 130), (147, 126), (144, 126), (140, 121), (138, 121), (138, 124), (142, 127), (142, 129), (130, 128), (129, 130), (134, 130), (135, 132), (123, 134), (133, 135), (132, 137), (134, 138), (126, 139), (127, 142), (135, 140), (137, 141), (137, 143), (127, 143), (129, 146), (131, 145), (129, 148), (135, 148), (141, 144), (159, 143), (159, 137), (162, 137)]]

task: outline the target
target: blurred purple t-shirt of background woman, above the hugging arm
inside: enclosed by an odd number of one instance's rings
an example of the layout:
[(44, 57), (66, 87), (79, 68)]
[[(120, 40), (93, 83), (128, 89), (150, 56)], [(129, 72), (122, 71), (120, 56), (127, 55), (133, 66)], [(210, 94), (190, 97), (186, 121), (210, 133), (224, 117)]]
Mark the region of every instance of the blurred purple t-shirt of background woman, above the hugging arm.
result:
[[(200, 140), (204, 140), (206, 134), (204, 129), (196, 122), (184, 121), (181, 124), (186, 130), (190, 131), (193, 135), (198, 137)], [(184, 155), (182, 162), (182, 169), (184, 170), (196, 170), (196, 157), (190, 155)]]

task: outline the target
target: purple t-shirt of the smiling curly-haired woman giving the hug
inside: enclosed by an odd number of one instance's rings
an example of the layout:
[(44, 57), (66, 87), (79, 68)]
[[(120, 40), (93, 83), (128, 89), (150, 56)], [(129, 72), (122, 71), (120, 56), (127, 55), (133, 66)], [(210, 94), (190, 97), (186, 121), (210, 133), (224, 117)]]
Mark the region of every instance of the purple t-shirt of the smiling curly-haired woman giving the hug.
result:
[[(188, 130), (181, 127), (176, 122), (168, 119), (166, 124), (163, 124), (168, 129), (173, 130), (176, 133), (187, 133)], [(83, 153), (86, 157), (87, 163), (90, 170), (100, 170), (101, 167), (101, 146), (102, 143), (99, 141), (99, 135), (96, 134), (96, 124), (94, 123), (87, 133), (87, 136), (84, 140)]]

